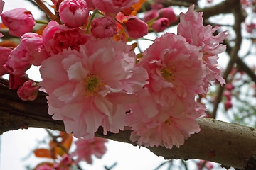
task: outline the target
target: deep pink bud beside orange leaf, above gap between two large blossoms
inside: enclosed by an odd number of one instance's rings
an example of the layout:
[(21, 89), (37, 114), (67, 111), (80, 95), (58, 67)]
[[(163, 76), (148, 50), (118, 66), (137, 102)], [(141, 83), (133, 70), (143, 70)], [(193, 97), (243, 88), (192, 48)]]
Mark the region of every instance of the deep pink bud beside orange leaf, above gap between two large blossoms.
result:
[(137, 18), (137, 16), (129, 16), (127, 21), (124, 21), (124, 29), (129, 38), (141, 38), (148, 33), (148, 25)]

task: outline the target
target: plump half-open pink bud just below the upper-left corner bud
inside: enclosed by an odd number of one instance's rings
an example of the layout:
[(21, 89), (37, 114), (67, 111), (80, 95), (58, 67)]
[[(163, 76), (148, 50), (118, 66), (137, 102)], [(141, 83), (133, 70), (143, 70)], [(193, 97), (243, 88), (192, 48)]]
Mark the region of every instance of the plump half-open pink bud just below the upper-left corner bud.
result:
[(36, 66), (49, 57), (43, 44), (43, 38), (36, 33), (25, 33), (20, 44), (11, 51), (10, 57), (16, 62), (27, 62)]

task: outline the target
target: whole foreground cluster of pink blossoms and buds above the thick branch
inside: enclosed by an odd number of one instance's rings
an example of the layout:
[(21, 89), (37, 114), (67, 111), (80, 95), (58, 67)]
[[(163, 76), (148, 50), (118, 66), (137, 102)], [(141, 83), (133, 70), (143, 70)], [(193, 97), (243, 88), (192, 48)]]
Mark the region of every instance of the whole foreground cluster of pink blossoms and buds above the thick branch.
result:
[[(196, 96), (206, 94), (215, 79), (225, 83), (216, 64), (226, 35), (213, 35), (218, 27), (203, 26), (203, 13), (191, 6), (180, 14), (177, 35), (156, 38), (137, 58), (129, 40), (142, 38), (151, 26), (164, 30), (159, 26), (169, 24), (162, 20), (177, 19), (171, 8), (162, 8), (142, 21), (133, 10), (136, 3), (64, 0), (58, 4), (61, 23), (50, 21), (42, 35), (30, 32), (35, 21), (26, 9), (2, 13), (9, 33), (21, 36), (21, 42), (0, 49), (1, 75), (10, 74), (10, 87), (19, 89), (23, 100), (33, 100), (43, 87), (48, 113), (63, 120), (66, 132), (75, 137), (90, 140), (99, 127), (107, 135), (128, 126), (139, 145), (183, 145), (200, 131), (196, 119), (206, 111)], [(41, 66), (40, 84), (26, 76), (31, 65)]]

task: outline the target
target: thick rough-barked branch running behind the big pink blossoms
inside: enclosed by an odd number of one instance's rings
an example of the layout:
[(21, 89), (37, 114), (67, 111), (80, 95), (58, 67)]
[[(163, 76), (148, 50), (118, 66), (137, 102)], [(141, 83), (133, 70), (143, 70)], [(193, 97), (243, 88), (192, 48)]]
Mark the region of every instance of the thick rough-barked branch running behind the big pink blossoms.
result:
[[(47, 94), (41, 92), (36, 101), (21, 101), (8, 82), (0, 79), (0, 134), (9, 130), (36, 127), (64, 131), (62, 121), (48, 115)], [(149, 147), (154, 154), (165, 159), (205, 159), (240, 169), (255, 169), (256, 131), (233, 123), (214, 119), (198, 119), (201, 132), (191, 135), (180, 148)], [(136, 145), (129, 140), (130, 130), (118, 134), (95, 134), (119, 142)], [(250, 168), (252, 167), (252, 168)]]

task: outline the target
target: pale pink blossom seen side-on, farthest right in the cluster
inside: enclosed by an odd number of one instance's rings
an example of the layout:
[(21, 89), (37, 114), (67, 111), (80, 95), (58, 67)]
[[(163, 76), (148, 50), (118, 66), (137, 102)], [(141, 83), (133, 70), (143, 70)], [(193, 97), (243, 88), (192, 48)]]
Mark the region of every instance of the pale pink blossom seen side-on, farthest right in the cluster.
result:
[(221, 85), (225, 84), (225, 80), (220, 76), (220, 69), (216, 67), (218, 64), (218, 54), (225, 51), (225, 45), (220, 43), (226, 38), (226, 32), (223, 31), (214, 36), (218, 27), (203, 26), (203, 13), (194, 11), (194, 6), (188, 8), (188, 12), (181, 13), (180, 23), (178, 24), (178, 35), (186, 38), (191, 45), (196, 45), (203, 52), (204, 64), (206, 64), (207, 76), (205, 84), (202, 86), (204, 93), (208, 90), (210, 81), (217, 79)]

